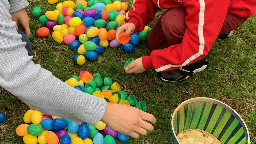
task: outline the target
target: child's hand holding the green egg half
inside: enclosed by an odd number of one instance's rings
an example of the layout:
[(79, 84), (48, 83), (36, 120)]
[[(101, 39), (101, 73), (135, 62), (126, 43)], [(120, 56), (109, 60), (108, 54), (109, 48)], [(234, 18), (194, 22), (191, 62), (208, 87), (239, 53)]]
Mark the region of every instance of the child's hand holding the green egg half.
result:
[(143, 64), (142, 64), (142, 57), (136, 59), (127, 67), (124, 66), (124, 70), (126, 73), (142, 73), (146, 71), (146, 69), (143, 67)]

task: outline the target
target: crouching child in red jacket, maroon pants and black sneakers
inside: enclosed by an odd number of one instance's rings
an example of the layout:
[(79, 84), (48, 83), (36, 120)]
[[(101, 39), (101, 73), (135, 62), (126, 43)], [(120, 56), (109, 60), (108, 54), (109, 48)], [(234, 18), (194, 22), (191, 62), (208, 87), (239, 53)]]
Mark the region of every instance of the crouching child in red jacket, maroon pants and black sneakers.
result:
[(150, 56), (125, 67), (127, 73), (154, 68), (164, 81), (182, 81), (206, 68), (204, 59), (214, 41), (230, 36), (253, 16), (256, 0), (134, 0), (121, 32), (142, 31), (155, 12), (168, 9), (148, 35)]

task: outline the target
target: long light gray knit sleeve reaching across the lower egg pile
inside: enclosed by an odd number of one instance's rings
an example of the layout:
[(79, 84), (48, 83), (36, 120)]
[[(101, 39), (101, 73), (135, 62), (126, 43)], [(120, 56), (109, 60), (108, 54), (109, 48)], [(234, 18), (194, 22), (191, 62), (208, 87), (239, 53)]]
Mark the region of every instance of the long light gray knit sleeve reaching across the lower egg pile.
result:
[(42, 113), (96, 124), (105, 112), (105, 99), (76, 90), (34, 64), (9, 8), (7, 0), (0, 3), (0, 86)]

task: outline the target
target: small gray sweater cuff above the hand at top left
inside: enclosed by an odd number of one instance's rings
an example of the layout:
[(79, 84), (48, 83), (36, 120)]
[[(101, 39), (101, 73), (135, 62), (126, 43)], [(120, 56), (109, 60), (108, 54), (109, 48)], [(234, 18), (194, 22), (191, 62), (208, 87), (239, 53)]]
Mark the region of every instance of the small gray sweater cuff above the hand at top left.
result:
[(9, 4), (10, 4), (10, 11), (9, 11), (10, 13), (17, 12), (29, 5), (27, 0), (9, 0)]

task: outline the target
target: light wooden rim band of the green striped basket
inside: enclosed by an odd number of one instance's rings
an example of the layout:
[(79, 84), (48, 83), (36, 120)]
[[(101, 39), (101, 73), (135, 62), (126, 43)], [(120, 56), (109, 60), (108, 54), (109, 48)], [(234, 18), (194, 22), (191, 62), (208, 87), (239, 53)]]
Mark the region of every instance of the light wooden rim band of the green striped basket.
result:
[[(177, 138), (177, 135), (175, 133), (175, 130), (174, 130), (174, 116), (175, 116), (175, 113), (177, 113), (177, 111), (185, 104), (188, 104), (188, 103), (191, 103), (191, 102), (198, 102), (198, 101), (204, 101), (204, 102), (211, 102), (211, 103), (214, 103), (214, 104), (218, 104), (220, 106), (222, 106), (223, 108), (226, 108), (232, 115), (235, 114), (235, 118), (239, 118), (239, 122), (242, 122), (245, 126), (245, 136), (248, 138), (247, 140), (247, 144), (250, 144), (250, 135), (249, 135), (249, 130), (248, 130), (248, 127), (246, 125), (246, 123), (244, 122), (244, 120), (242, 119), (242, 117), (234, 110), (232, 109), (230, 106), (228, 106), (227, 104), (219, 101), (219, 100), (216, 100), (216, 99), (212, 99), (212, 98), (207, 98), (207, 97), (196, 97), (196, 98), (191, 98), (191, 99), (188, 99), (184, 102), (182, 102), (181, 104), (179, 104), (179, 106), (174, 110), (173, 114), (172, 114), (172, 118), (171, 118), (171, 127), (172, 127), (172, 131), (173, 131), (173, 134), (174, 134), (174, 137), (176, 140), (178, 140)], [(247, 134), (246, 134), (247, 132)]]

